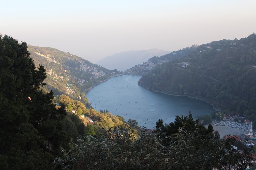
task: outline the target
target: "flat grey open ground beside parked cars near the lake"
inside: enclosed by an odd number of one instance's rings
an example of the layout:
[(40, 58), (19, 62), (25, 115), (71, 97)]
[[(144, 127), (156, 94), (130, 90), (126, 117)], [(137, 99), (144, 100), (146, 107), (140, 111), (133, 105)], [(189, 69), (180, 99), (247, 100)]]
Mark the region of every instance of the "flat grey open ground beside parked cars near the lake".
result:
[(230, 134), (230, 135), (242, 135), (243, 130), (237, 129), (237, 128), (232, 128), (230, 126), (216, 126), (212, 124), (213, 130), (218, 131), (220, 138), (223, 138), (223, 136)]

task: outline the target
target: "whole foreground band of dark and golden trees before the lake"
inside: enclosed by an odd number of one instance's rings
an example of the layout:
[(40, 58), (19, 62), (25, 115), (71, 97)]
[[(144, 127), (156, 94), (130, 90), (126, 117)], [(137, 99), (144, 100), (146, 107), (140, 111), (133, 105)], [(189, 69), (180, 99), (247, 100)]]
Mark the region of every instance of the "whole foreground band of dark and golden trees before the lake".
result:
[[(188, 116), (138, 127), (77, 98), (55, 99), (26, 43), (0, 35), (1, 169), (245, 169), (252, 148)], [(55, 100), (60, 105), (55, 104)], [(73, 108), (76, 112), (70, 112)], [(95, 120), (90, 124), (79, 115)], [(235, 147), (237, 148), (235, 148)]]

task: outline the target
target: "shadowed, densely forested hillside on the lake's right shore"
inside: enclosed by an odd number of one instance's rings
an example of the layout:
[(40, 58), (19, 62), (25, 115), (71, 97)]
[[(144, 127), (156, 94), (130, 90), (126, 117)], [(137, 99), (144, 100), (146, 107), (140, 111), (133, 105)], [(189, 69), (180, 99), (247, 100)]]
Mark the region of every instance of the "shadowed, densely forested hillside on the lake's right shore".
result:
[(256, 127), (256, 35), (201, 45), (155, 67), (139, 84), (203, 99), (224, 114), (247, 116)]

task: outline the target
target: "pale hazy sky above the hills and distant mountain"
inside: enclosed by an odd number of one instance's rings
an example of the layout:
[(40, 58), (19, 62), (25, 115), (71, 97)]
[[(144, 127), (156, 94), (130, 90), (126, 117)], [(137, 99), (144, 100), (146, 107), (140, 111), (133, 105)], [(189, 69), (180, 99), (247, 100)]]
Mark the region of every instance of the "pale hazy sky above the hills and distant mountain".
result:
[(176, 51), (256, 32), (256, 0), (5, 0), (0, 33), (96, 63), (123, 51)]

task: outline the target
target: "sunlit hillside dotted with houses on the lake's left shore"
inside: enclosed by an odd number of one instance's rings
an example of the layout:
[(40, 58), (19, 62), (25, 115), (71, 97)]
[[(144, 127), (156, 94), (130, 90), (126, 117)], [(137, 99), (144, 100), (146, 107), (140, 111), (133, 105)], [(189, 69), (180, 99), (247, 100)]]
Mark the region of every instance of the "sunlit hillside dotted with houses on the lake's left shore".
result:
[(46, 69), (44, 88), (53, 90), (54, 95), (81, 97), (84, 90), (120, 74), (117, 70), (106, 69), (55, 48), (28, 46), (28, 51), (35, 65), (41, 64)]

